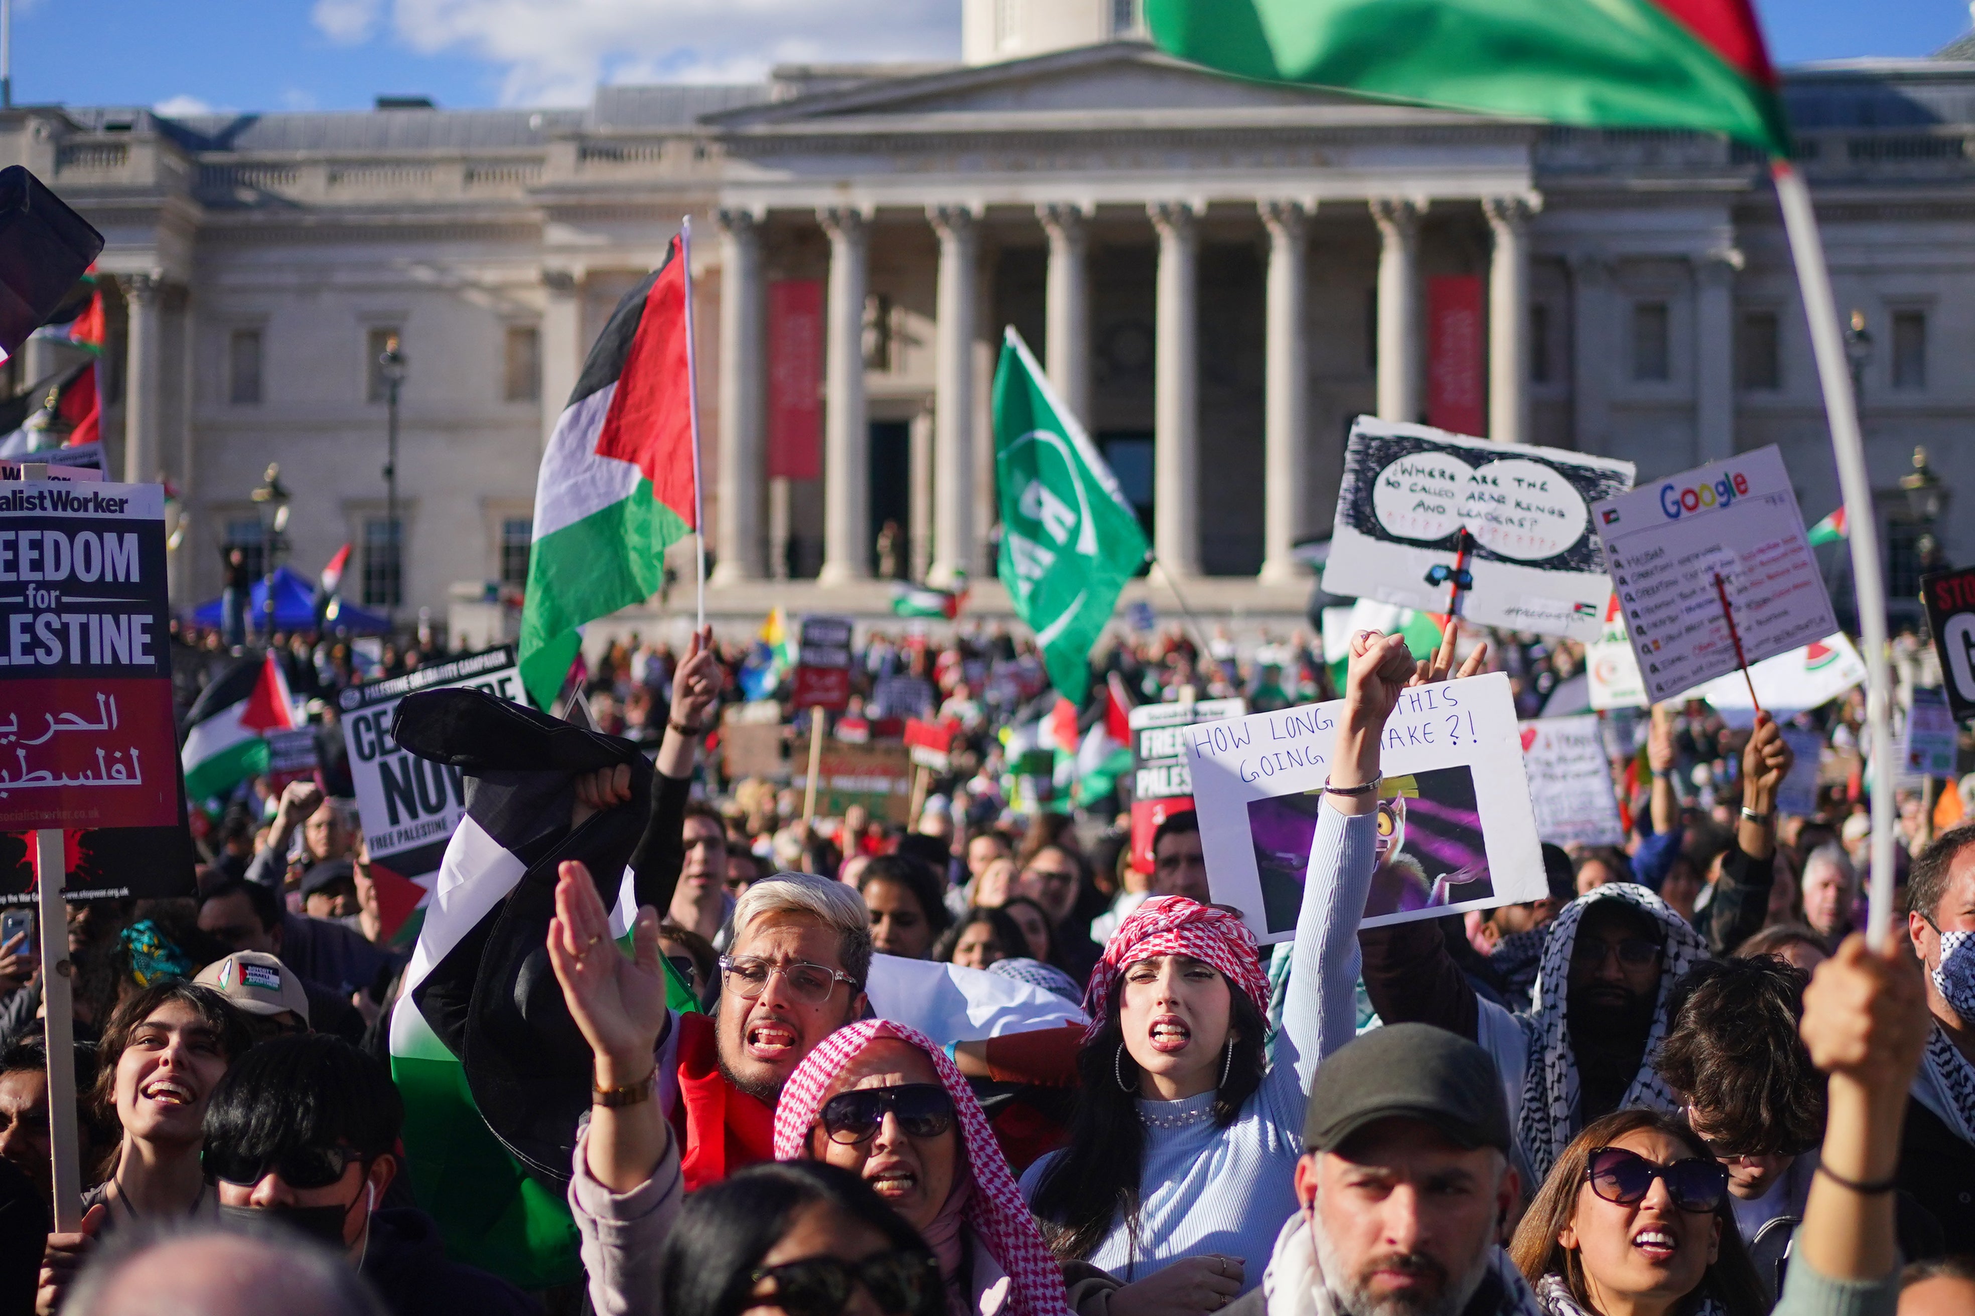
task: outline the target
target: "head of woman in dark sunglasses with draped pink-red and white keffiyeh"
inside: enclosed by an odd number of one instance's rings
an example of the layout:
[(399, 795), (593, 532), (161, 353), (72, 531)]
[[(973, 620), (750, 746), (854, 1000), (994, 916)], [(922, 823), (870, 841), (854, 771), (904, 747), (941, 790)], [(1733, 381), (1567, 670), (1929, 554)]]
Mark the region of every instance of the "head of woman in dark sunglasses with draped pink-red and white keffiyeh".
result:
[(918, 1030), (863, 1020), (818, 1044), (782, 1087), (774, 1154), (822, 1160), (869, 1184), (932, 1247), (954, 1316), (1066, 1316), (1063, 1273), (988, 1117)]

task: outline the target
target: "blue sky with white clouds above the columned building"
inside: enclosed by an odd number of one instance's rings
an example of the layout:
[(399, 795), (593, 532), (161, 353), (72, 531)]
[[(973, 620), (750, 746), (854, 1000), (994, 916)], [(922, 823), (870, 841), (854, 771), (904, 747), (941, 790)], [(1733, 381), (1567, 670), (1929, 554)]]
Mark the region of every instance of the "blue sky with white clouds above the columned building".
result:
[[(1783, 63), (1926, 55), (1965, 0), (1758, 0)], [(180, 110), (581, 105), (596, 81), (958, 57), (958, 0), (16, 0), (14, 99)]]

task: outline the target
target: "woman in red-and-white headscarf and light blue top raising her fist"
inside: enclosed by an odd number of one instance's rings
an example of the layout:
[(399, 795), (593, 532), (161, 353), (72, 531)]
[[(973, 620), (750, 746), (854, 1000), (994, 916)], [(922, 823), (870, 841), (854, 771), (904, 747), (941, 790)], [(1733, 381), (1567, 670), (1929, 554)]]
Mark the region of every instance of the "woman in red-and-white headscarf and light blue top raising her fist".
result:
[(1250, 1275), (1242, 1259), (1268, 1257), (1298, 1209), (1292, 1178), (1309, 1079), (1355, 1034), (1379, 740), (1408, 683), (1444, 677), (1444, 661), (1416, 667), (1396, 635), (1353, 637), (1274, 1063), (1268, 979), (1240, 915), (1159, 896), (1112, 935), (1090, 975), (1068, 1146), (1023, 1176), (1059, 1259), (1088, 1261), (1126, 1284), (1173, 1271), (1181, 1288), (1207, 1284), (1201, 1310), (1260, 1282), (1260, 1267)]

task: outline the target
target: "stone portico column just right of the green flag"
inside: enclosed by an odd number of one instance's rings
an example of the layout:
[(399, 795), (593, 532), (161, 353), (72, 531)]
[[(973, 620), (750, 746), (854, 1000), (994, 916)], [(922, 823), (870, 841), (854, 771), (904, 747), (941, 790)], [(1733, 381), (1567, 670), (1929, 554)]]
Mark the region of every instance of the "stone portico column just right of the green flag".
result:
[(1153, 353), (1153, 552), (1175, 576), (1201, 574), (1199, 233), (1185, 201), (1146, 207), (1159, 231)]

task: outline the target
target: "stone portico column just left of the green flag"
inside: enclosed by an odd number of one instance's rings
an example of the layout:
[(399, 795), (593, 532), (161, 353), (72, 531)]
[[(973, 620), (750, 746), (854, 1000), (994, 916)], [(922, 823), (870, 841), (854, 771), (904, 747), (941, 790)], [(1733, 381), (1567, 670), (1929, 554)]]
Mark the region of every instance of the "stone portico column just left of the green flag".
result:
[(978, 233), (964, 205), (928, 205), (940, 235), (938, 341), (932, 404), (932, 566), (926, 582), (950, 586), (974, 556), (974, 320), (980, 286)]

